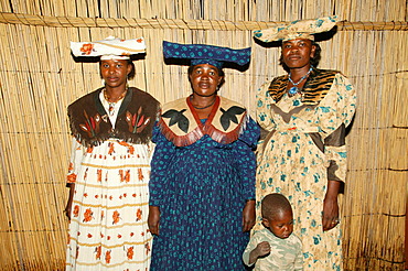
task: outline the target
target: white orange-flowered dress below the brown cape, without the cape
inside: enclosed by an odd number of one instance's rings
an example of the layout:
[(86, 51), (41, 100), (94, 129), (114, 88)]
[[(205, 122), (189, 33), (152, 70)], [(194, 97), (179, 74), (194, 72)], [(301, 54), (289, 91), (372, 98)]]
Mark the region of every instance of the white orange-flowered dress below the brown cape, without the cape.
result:
[(66, 270), (148, 270), (151, 149), (109, 139), (84, 148), (73, 140), (75, 182)]

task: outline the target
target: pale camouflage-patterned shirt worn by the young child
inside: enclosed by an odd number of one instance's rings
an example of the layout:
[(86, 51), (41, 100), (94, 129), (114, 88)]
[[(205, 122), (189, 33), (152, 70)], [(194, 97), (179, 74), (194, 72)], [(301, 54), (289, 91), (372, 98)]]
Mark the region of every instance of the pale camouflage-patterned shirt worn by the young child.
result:
[(302, 242), (294, 234), (286, 239), (276, 237), (269, 229), (256, 231), (250, 238), (247, 248), (244, 251), (244, 263), (250, 267), (249, 253), (258, 243), (268, 241), (270, 245), (270, 253), (266, 257), (260, 257), (255, 262), (254, 271), (289, 271), (303, 270)]

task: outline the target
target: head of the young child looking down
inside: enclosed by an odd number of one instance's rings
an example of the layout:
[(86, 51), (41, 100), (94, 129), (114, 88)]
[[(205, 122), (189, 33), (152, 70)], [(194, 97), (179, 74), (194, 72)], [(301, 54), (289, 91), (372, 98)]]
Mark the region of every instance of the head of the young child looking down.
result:
[(293, 231), (293, 214), (289, 200), (278, 193), (262, 199), (262, 223), (276, 237), (286, 239)]

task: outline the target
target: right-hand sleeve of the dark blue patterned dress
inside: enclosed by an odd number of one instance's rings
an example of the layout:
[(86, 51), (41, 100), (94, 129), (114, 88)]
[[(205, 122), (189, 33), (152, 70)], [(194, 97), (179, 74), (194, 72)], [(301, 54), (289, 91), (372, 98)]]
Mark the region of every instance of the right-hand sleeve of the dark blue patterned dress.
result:
[(249, 117), (246, 128), (239, 139), (234, 142), (234, 156), (236, 169), (240, 177), (240, 191), (243, 199), (255, 198), (256, 159), (255, 148), (259, 139), (259, 127)]

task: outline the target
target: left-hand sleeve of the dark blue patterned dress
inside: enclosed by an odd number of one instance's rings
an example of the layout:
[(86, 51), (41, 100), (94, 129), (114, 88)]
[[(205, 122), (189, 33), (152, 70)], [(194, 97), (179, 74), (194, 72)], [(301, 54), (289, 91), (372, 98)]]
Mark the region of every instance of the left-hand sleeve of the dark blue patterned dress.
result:
[(158, 124), (153, 128), (152, 141), (155, 143), (153, 158), (151, 161), (151, 174), (149, 181), (149, 205), (160, 206), (161, 198), (165, 193), (165, 182), (168, 175), (168, 166), (170, 165), (175, 147), (172, 142), (165, 139), (160, 131)]

